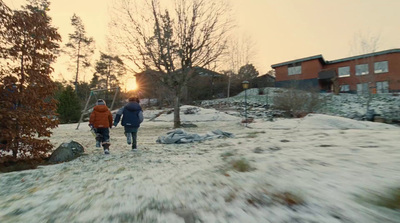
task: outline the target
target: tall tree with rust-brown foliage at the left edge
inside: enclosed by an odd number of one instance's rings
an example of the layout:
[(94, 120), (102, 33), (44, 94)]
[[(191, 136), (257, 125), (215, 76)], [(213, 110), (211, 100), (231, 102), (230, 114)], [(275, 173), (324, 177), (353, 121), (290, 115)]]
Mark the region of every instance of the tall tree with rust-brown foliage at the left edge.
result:
[(48, 155), (55, 118), (56, 85), (50, 78), (61, 36), (47, 15), (49, 1), (34, 0), (11, 11), (0, 1), (0, 136), (13, 158)]

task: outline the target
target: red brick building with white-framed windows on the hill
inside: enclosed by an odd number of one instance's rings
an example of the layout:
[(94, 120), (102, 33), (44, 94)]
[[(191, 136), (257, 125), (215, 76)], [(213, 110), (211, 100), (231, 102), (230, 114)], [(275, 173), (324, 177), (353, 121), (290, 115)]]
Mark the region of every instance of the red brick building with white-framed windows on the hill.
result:
[(389, 93), (400, 91), (400, 49), (327, 61), (322, 55), (271, 66), (276, 87), (321, 91)]

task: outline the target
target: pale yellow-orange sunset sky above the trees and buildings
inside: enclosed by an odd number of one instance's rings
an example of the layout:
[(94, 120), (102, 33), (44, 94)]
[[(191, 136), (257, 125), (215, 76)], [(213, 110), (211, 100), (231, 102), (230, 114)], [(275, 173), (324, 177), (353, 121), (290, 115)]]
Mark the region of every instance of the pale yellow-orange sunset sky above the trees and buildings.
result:
[[(12, 9), (24, 0), (3, 0)], [(63, 41), (72, 32), (71, 16), (81, 17), (97, 50), (105, 49), (109, 8), (115, 0), (53, 0), (50, 16)], [(360, 39), (379, 38), (377, 50), (400, 45), (399, 0), (230, 0), (240, 35), (250, 36), (256, 50), (250, 61), (260, 74), (271, 65), (322, 54), (335, 60), (357, 54)], [(358, 53), (359, 54), (359, 53)], [(59, 59), (56, 73), (71, 78)], [(56, 75), (57, 76), (57, 75)], [(91, 74), (85, 75), (88, 81)]]

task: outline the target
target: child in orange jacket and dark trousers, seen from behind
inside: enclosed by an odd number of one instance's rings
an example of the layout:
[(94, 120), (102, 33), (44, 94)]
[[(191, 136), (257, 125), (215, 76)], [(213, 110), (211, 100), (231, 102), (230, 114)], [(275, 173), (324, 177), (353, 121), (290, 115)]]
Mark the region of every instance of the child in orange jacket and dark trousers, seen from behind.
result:
[(104, 153), (110, 154), (110, 128), (112, 128), (113, 118), (106, 102), (99, 99), (93, 112), (90, 114), (89, 126), (96, 132), (96, 147), (103, 146)]

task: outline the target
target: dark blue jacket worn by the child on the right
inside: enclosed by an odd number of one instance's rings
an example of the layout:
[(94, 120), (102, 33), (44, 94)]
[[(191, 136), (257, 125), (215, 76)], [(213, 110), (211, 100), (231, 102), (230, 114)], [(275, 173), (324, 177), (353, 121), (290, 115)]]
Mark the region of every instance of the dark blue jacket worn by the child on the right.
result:
[(119, 120), (121, 125), (125, 127), (139, 128), (143, 122), (143, 111), (137, 102), (129, 102), (123, 108), (119, 109), (114, 120), (114, 126), (117, 126)]

